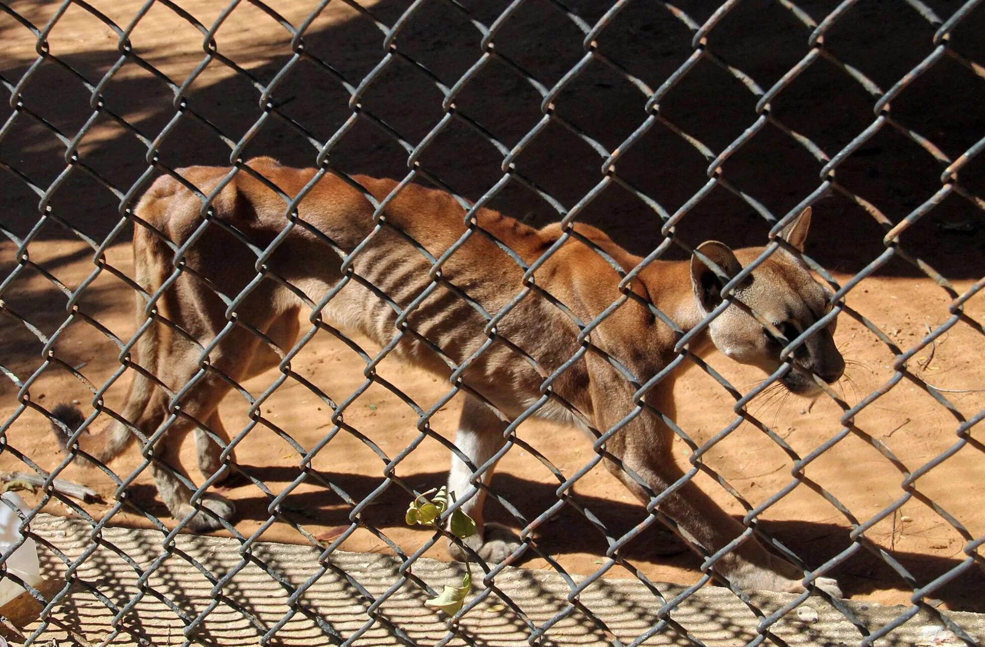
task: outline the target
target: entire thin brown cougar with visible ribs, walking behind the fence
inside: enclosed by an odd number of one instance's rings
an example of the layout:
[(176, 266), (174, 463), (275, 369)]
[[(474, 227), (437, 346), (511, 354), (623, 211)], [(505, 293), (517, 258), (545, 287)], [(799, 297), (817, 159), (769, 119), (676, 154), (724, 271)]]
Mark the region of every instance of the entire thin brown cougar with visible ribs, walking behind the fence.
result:
[[(314, 169), (289, 168), (267, 158), (248, 164), (288, 196), (295, 196), (315, 173)], [(206, 195), (229, 172), (229, 168), (205, 166), (179, 170)], [(357, 176), (356, 180), (377, 200), (384, 199), (396, 186), (392, 180), (364, 176)], [(201, 207), (198, 197), (166, 176), (154, 182), (141, 199), (136, 215), (157, 229), (137, 226), (133, 242), (137, 281), (148, 293), (158, 291), (173, 272), (173, 251), (161, 236), (176, 245), (185, 243), (202, 222)], [(287, 225), (284, 200), (243, 171), (220, 192), (213, 210), (215, 220), (244, 232), (261, 249)], [(347, 278), (348, 284), (328, 302), (321, 315), (331, 325), (355, 328), (381, 346), (389, 344), (398, 334), (394, 326), (397, 313), (392, 306), (406, 308), (430, 284), (431, 261), (397, 233), (394, 226), (435, 257), (455, 244), (466, 231), (464, 211), (451, 196), (417, 185), (409, 185), (399, 192), (385, 211), (386, 224), (374, 229), (370, 203), (358, 189), (332, 175), (326, 175), (311, 189), (300, 202), (298, 213), (300, 222), (278, 247), (267, 269), (317, 303), (343, 280), (340, 257), (325, 244), (325, 239), (349, 253), (369, 236), (368, 244), (355, 256), (354, 274)], [(488, 209), (478, 210), (476, 219), (479, 227), (507, 244), (528, 264), (536, 261), (562, 235), (558, 225), (535, 229)], [(810, 214), (806, 213), (785, 230), (785, 237), (801, 247), (809, 223)], [(315, 229), (320, 233), (314, 232)], [(575, 231), (602, 247), (625, 269), (640, 261), (595, 227), (576, 225)], [(761, 252), (761, 249), (748, 249), (733, 253), (725, 245), (713, 242), (704, 243), (698, 249), (730, 273)], [(222, 227), (210, 225), (187, 250), (186, 271), (156, 302), (157, 321), (140, 338), (133, 361), (161, 380), (166, 390), (180, 389), (198, 372), (202, 347), (227, 326), (227, 304), (216, 296), (214, 289), (235, 298), (256, 275), (255, 263), (256, 256), (244, 244)], [(710, 272), (697, 257), (690, 262), (656, 261), (640, 273), (631, 289), (639, 297), (652, 300), (683, 329), (689, 330), (720, 302), (721, 282)], [(208, 283), (196, 277), (196, 273)], [(522, 274), (523, 270), (482, 231), (475, 231), (441, 267), (443, 281), (467, 293), (493, 315), (525, 290)], [(566, 241), (537, 270), (534, 280), (539, 290), (552, 294), (582, 322), (591, 321), (612, 303), (624, 299), (618, 289), (620, 276), (616, 271), (574, 239)], [(385, 297), (363, 287), (361, 282), (375, 286)], [(798, 331), (821, 316), (827, 296), (810, 273), (782, 251), (758, 268), (753, 280), (736, 292), (739, 300), (762, 316), (771, 317), (778, 324), (786, 322)], [(392, 299), (393, 304), (387, 299)], [(137, 321), (141, 325), (146, 321), (145, 307), (145, 298), (138, 296)], [(296, 294), (281, 283), (273, 279), (261, 282), (235, 308), (236, 321), (243, 325), (233, 327), (212, 350), (210, 366), (241, 382), (277, 365), (281, 356), (246, 327), (262, 331), (274, 346), (286, 353), (296, 342), (301, 309), (307, 312)], [(181, 331), (162, 324), (164, 320)], [(479, 356), (474, 354), (489, 339), (484, 333), (487, 320), (443, 285), (419, 303), (407, 324), (393, 355), (445, 377), (451, 369), (431, 350), (430, 344), (456, 364), (473, 357), (462, 376), (464, 383), (510, 420), (541, 397), (540, 385), (544, 381), (510, 346), (533, 357), (548, 373), (580, 348), (576, 340), (577, 325), (538, 290), (528, 291), (502, 318), (496, 326), (497, 341)], [(702, 336), (704, 340), (710, 338), (727, 355), (770, 371), (780, 365), (778, 355), (785, 343), (766, 334), (739, 307), (730, 306), (709, 329), (710, 335)], [(840, 376), (843, 363), (831, 340), (832, 330), (833, 327), (819, 331), (798, 352), (795, 370), (784, 377), (791, 390), (817, 391), (819, 387), (812, 373), (827, 381)], [(630, 384), (598, 351), (618, 359), (642, 384), (674, 358), (676, 340), (673, 331), (636, 299), (624, 299), (592, 331), (593, 350), (558, 377), (552, 401), (535, 415), (568, 422), (583, 430), (587, 430), (584, 423), (587, 421), (592, 428), (605, 432), (634, 410), (633, 394), (639, 386)], [(691, 349), (699, 347), (701, 342), (696, 340)], [(671, 418), (676, 406), (675, 379), (675, 374), (669, 375), (645, 396), (648, 405)], [(217, 407), (229, 389), (230, 384), (210, 370), (181, 402), (183, 418), (172, 424), (155, 446), (154, 478), (164, 502), (176, 517), (193, 513), (188, 504), (187, 483), (190, 482), (178, 462), (181, 439), (195, 429), (200, 468), (206, 474), (213, 474), (222, 467), (216, 444), (197, 427), (206, 426), (219, 438), (228, 440)], [(167, 415), (168, 400), (165, 389), (138, 374), (122, 414), (144, 434), (151, 435)], [(568, 407), (580, 415), (573, 414)], [(467, 395), (456, 444), (470, 458), (472, 466), (483, 465), (503, 446), (504, 427), (505, 423), (480, 398)], [(125, 425), (113, 422), (99, 434), (82, 434), (79, 443), (85, 452), (99, 460), (108, 460), (122, 451), (131, 438)], [(661, 492), (683, 475), (673, 458), (672, 440), (673, 433), (667, 426), (657, 416), (644, 411), (616, 432), (607, 441), (606, 449), (639, 475), (649, 490)], [(477, 491), (470, 483), (473, 467), (457, 458), (452, 463), (449, 489), (459, 499), (468, 498), (465, 510), (476, 518), (480, 529), (470, 540), (472, 548), (484, 557), (501, 560), (515, 547), (515, 538), (502, 528), (486, 527), (482, 516), (484, 492)], [(647, 488), (629, 478), (615, 462), (607, 463), (640, 501), (650, 501)], [(488, 481), (491, 474), (492, 470), (487, 471), (482, 479)], [(191, 517), (191, 526), (199, 531), (218, 527), (213, 515), (229, 518), (233, 512), (231, 503), (219, 496), (211, 495), (205, 505), (213, 514), (199, 512)], [(661, 510), (707, 550), (720, 549), (744, 530), (689, 482), (668, 496)], [(753, 538), (726, 555), (717, 568), (742, 588), (803, 590), (800, 584), (803, 573), (764, 550)], [(818, 582), (821, 588), (838, 593), (833, 580), (821, 578)]]

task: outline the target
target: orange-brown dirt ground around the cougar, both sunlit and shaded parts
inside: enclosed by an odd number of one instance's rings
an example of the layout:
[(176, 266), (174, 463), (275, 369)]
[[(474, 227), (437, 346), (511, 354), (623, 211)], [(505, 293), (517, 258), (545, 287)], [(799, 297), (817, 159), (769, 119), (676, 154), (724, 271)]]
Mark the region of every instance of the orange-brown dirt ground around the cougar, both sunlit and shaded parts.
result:
[[(126, 25), (143, 3), (115, 0), (94, 5), (119, 25)], [(308, 3), (269, 3), (292, 24), (299, 25), (310, 11)], [(392, 24), (405, 3), (382, 0), (372, 11)], [(503, 6), (499, 6), (502, 4)], [(531, 5), (531, 3), (527, 3)], [(496, 36), (497, 50), (522, 63), (549, 87), (578, 60), (581, 36), (563, 15), (550, 7), (526, 7), (508, 21)], [(543, 3), (548, 5), (549, 3)], [(581, 3), (588, 5), (589, 3)], [(654, 3), (655, 4), (655, 3)], [(708, 12), (685, 3), (698, 22)], [(801, 3), (816, 20), (835, 3)], [(749, 5), (753, 5), (750, 7)], [(10, 6), (35, 25), (42, 25), (55, 4), (12, 2)], [(489, 24), (504, 8), (503, 3), (467, 4), (480, 20)], [(649, 6), (649, 5), (648, 5)], [(182, 7), (209, 26), (221, 4), (195, 0)], [(401, 32), (400, 50), (420, 60), (446, 84), (454, 82), (480, 55), (478, 32), (460, 15), (425, 4)], [(589, 23), (597, 20), (598, 7), (579, 5)], [(870, 3), (855, 10), (850, 22), (831, 32), (830, 48), (838, 56), (855, 61), (884, 89), (931, 50), (933, 29), (921, 22), (908, 7), (887, 9)], [(758, 12), (758, 13), (756, 13)], [(883, 12), (883, 13), (880, 13)], [(912, 15), (911, 15), (912, 14)], [(985, 10), (979, 8), (969, 19), (967, 31), (956, 31), (952, 44), (972, 60), (981, 61), (982, 43), (969, 37), (982, 26)], [(914, 18), (916, 16), (916, 18)], [(860, 20), (865, 19), (865, 20)], [(895, 26), (885, 30), (885, 25)], [(876, 26), (876, 27), (872, 27)], [(883, 26), (883, 27), (880, 27)], [(885, 30), (885, 32), (884, 32)], [(980, 29), (978, 30), (980, 33)], [(724, 59), (738, 64), (763, 88), (768, 88), (794, 62), (807, 53), (809, 31), (792, 20), (779, 3), (752, 2), (740, 5), (720, 28), (712, 32), (710, 47)], [(21, 78), (36, 56), (33, 36), (10, 17), (0, 14), (0, 74), (13, 83)], [(290, 54), (290, 34), (252, 5), (240, 5), (217, 32), (222, 53), (250, 71), (261, 83), (269, 83)], [(350, 80), (358, 81), (375, 65), (382, 52), (382, 36), (375, 27), (341, 3), (331, 3), (312, 23), (305, 35), (306, 51), (335, 66)], [(600, 36), (600, 50), (638, 73), (656, 88), (692, 51), (690, 32), (668, 12), (632, 5)], [(77, 5), (72, 5), (48, 38), (50, 51), (97, 81), (116, 59), (116, 36)], [(183, 80), (201, 61), (201, 34), (164, 5), (155, 5), (131, 35), (134, 51), (172, 79)], [(978, 39), (980, 40), (980, 39)], [(977, 48), (977, 49), (976, 49)], [(824, 67), (826, 66), (826, 67)], [(950, 59), (934, 74), (921, 77), (912, 90), (893, 104), (900, 123), (929, 137), (944, 155), (954, 159), (985, 132), (981, 97), (985, 84)], [(146, 70), (125, 64), (105, 86), (105, 104), (153, 139), (174, 114), (172, 94)], [(257, 90), (219, 62), (210, 64), (189, 90), (189, 104), (212, 119), (235, 141), (260, 114)], [(283, 110), (324, 142), (351, 113), (348, 94), (324, 70), (302, 62), (278, 86), (275, 99)], [(835, 98), (832, 98), (835, 97)], [(836, 99), (836, 100), (835, 100)], [(457, 106), (486, 125), (493, 135), (514, 145), (540, 118), (540, 96), (515, 72), (498, 65), (470, 84)], [(38, 68), (24, 88), (25, 105), (48, 120), (71, 139), (92, 114), (89, 93), (77, 79), (53, 63)], [(812, 67), (774, 100), (774, 115), (789, 127), (811, 137), (827, 155), (833, 156), (872, 120), (872, 98), (842, 71), (827, 63)], [(362, 99), (364, 109), (380, 115), (409, 142), (418, 143), (441, 117), (440, 94), (420, 71), (398, 61), (370, 86)], [(624, 78), (605, 66), (589, 66), (558, 99), (558, 113), (590, 132), (612, 150), (645, 117), (643, 99)], [(755, 120), (755, 97), (719, 68), (702, 63), (661, 107), (662, 114), (701, 139), (712, 151), (721, 151)], [(10, 115), (0, 107), (0, 118)], [(401, 177), (406, 173), (406, 152), (385, 133), (361, 118), (350, 135), (333, 152), (338, 167), (351, 172)], [(286, 163), (308, 165), (315, 158), (311, 144), (277, 119), (269, 120), (246, 147), (245, 156), (274, 155)], [(146, 146), (110, 119), (100, 116), (78, 147), (81, 159), (125, 192), (147, 168)], [(0, 139), (0, 161), (16, 167), (40, 187), (48, 187), (64, 170), (65, 147), (50, 132), (24, 114), (15, 127)], [(164, 139), (162, 161), (171, 166), (190, 163), (223, 163), (229, 149), (194, 119), (185, 117)], [(501, 156), (465, 126), (450, 127), (428, 147), (422, 164), (470, 199), (478, 199), (501, 175)], [(543, 188), (570, 208), (598, 181), (600, 159), (578, 138), (558, 125), (551, 125), (518, 158), (520, 167)], [(707, 161), (684, 140), (663, 126), (651, 130), (625, 156), (620, 174), (655, 197), (674, 212), (706, 181)], [(755, 196), (773, 213), (784, 214), (817, 188), (821, 164), (778, 129), (767, 127), (725, 166), (725, 177)], [(985, 194), (982, 163), (972, 161), (962, 171), (962, 185), (972, 194)], [(865, 148), (839, 167), (838, 181), (849, 190), (877, 205), (889, 221), (896, 223), (940, 189), (942, 165), (911, 141), (886, 127)], [(37, 195), (12, 174), (0, 177), (4, 213), (0, 224), (15, 236), (24, 236), (37, 221)], [(50, 202), (51, 214), (101, 242), (119, 219), (119, 200), (84, 172), (76, 170), (58, 186)], [(535, 194), (515, 183), (493, 201), (493, 207), (524, 217), (535, 224), (558, 220), (558, 214)], [(815, 208), (815, 226), (808, 253), (834, 270), (842, 285), (885, 249), (885, 229), (850, 200), (834, 194)], [(660, 221), (627, 193), (608, 191), (592, 203), (582, 218), (602, 226), (620, 243), (637, 253), (647, 253), (660, 243)], [(734, 246), (761, 244), (767, 227), (746, 203), (723, 189), (715, 189), (688, 214), (678, 234), (691, 244), (708, 237)], [(111, 267), (132, 276), (133, 261), (127, 242), (129, 227), (105, 251)], [(951, 280), (962, 293), (985, 273), (985, 226), (982, 212), (956, 195), (921, 219), (901, 239), (901, 246), (918, 255)], [(0, 243), (0, 277), (7, 277), (17, 262), (17, 244)], [(96, 266), (93, 248), (72, 231), (46, 222), (27, 249), (33, 264), (69, 290), (75, 290)], [(675, 252), (672, 252), (672, 254)], [(847, 304), (882, 330), (899, 349), (908, 349), (927, 332), (951, 316), (952, 297), (912, 265), (893, 259), (873, 277), (849, 292)], [(80, 307), (121, 339), (134, 331), (130, 308), (133, 299), (127, 286), (109, 272), (102, 272), (87, 287)], [(18, 318), (30, 321), (43, 335), (52, 334), (64, 320), (66, 297), (49, 277), (29, 267), (3, 289), (3, 305), (16, 317), (0, 318), (0, 363), (21, 380), (41, 365), (42, 343)], [(839, 554), (850, 546), (852, 523), (865, 523), (886, 506), (904, 496), (900, 483), (903, 470), (914, 471), (952, 448), (958, 441), (957, 419), (972, 419), (985, 408), (985, 296), (981, 293), (964, 305), (968, 320), (958, 321), (937, 340), (933, 348), (920, 351), (909, 362), (912, 375), (941, 389), (940, 397), (952, 411), (912, 379), (894, 383), (886, 395), (876, 399), (855, 418), (855, 431), (848, 433), (807, 468), (807, 475), (821, 484), (850, 509), (848, 519), (828, 500), (806, 485), (799, 485), (760, 515), (763, 526), (811, 566)], [(975, 323), (977, 322), (977, 323)], [(357, 339), (363, 348), (371, 345)], [(847, 316), (839, 320), (836, 341), (851, 360), (848, 375), (840, 386), (845, 400), (854, 405), (874, 390), (889, 385), (894, 372), (893, 352), (860, 322)], [(91, 324), (79, 322), (66, 329), (53, 351), (67, 364), (78, 368), (93, 384), (101, 385), (118, 368), (116, 347)], [(733, 384), (751, 389), (760, 378), (754, 369), (736, 366), (724, 356), (712, 354), (709, 362)], [(359, 356), (339, 340), (319, 333), (293, 360), (292, 366), (305, 379), (336, 399), (345, 399), (363, 380)], [(435, 378), (384, 360), (380, 375), (427, 407), (441, 398), (448, 385)], [(276, 371), (245, 384), (254, 395), (262, 393), (278, 377)], [(122, 400), (129, 376), (124, 375), (106, 395), (111, 408)], [(31, 387), (35, 403), (50, 408), (62, 400), (79, 400), (91, 411), (92, 394), (86, 386), (60, 368), (45, 370)], [(690, 370), (680, 386), (678, 422), (698, 442), (713, 436), (733, 420), (733, 400), (714, 380), (699, 370)], [(431, 420), (432, 428), (453, 437), (460, 399), (452, 400)], [(0, 386), (0, 420), (8, 421), (18, 409), (17, 389), (8, 381)], [(222, 406), (230, 432), (248, 422), (243, 398), (232, 394)], [(811, 406), (796, 397), (755, 400), (750, 405), (800, 455), (811, 453), (839, 434), (841, 410), (827, 398)], [(331, 429), (331, 412), (302, 384), (288, 379), (263, 407), (265, 423), (258, 424), (236, 449), (243, 469), (263, 481), (275, 494), (295, 481), (299, 454), (272, 428), (276, 425), (297, 443), (310, 449)], [(370, 387), (346, 414), (346, 421), (360, 429), (382, 452), (393, 457), (418, 437), (416, 416), (397, 397), (378, 385)], [(0, 469), (24, 470), (17, 458), (23, 454), (39, 467), (50, 470), (61, 457), (43, 416), (29, 409), (14, 420), (4, 439)], [(950, 515), (973, 538), (985, 534), (985, 454), (982, 427), (972, 427), (972, 441), (954, 452), (940, 466), (920, 477), (910, 498), (899, 510), (875, 523), (865, 536), (875, 546), (889, 551), (926, 585), (966, 558), (965, 541), (945, 515)], [(546, 422), (521, 426), (520, 435), (565, 475), (571, 475), (593, 458), (589, 443), (576, 431)], [(677, 443), (682, 461), (688, 452)], [(893, 465), (879, 451), (884, 446), (898, 459)], [(185, 458), (193, 463), (191, 443)], [(706, 462), (754, 505), (791, 483), (791, 461), (765, 434), (743, 424), (706, 455)], [(441, 485), (447, 476), (449, 454), (438, 442), (424, 440), (398, 466), (397, 475), (419, 489)], [(132, 455), (121, 457), (111, 467), (119, 475), (129, 474), (138, 464)], [(343, 431), (312, 460), (313, 467), (333, 484), (360, 500), (382, 483), (385, 464), (363, 441)], [(197, 472), (193, 472), (197, 478)], [(103, 499), (112, 500), (114, 486), (97, 471), (71, 466), (63, 478), (94, 486)], [(702, 486), (735, 514), (741, 507), (731, 494), (710, 479)], [(557, 481), (536, 458), (514, 448), (500, 463), (493, 488), (509, 499), (528, 519), (552, 505)], [(139, 475), (131, 487), (136, 502), (172, 523), (147, 474)], [(602, 469), (596, 469), (574, 486), (579, 501), (592, 510), (618, 536), (644, 518), (623, 486)], [(245, 536), (268, 520), (269, 498), (255, 485), (236, 485), (224, 491), (238, 507), (237, 530)], [(30, 500), (36, 501), (36, 496)], [(926, 501), (940, 506), (935, 510)], [(380, 529), (402, 550), (420, 547), (429, 536), (407, 528), (403, 522), (409, 497), (391, 486), (363, 512), (363, 519)], [(108, 508), (89, 504), (87, 510), (99, 518)], [(57, 502), (45, 511), (65, 514)], [(311, 482), (298, 485), (285, 500), (284, 515), (321, 538), (332, 538), (349, 524), (350, 508), (335, 493)], [(944, 514), (942, 514), (944, 513)], [(515, 520), (494, 502), (489, 517), (516, 526)], [(146, 526), (148, 522), (123, 511), (114, 523)], [(539, 530), (538, 546), (550, 553), (568, 572), (588, 574), (603, 559), (606, 543), (584, 517), (571, 508), (562, 509)], [(688, 554), (661, 557), (655, 554), (649, 534), (629, 543), (625, 557), (648, 577), (673, 582), (696, 578), (698, 560)], [(297, 530), (278, 521), (263, 531), (262, 539), (279, 542), (303, 541)], [(346, 550), (385, 551), (389, 547), (369, 531), (360, 529), (350, 537)], [(443, 549), (428, 551), (444, 558)], [(980, 557), (979, 557), (980, 562)], [(550, 567), (542, 558), (525, 565)], [(833, 573), (846, 595), (886, 604), (906, 603), (912, 588), (877, 555), (858, 550)], [(610, 576), (630, 577), (623, 567)], [(954, 609), (985, 611), (981, 591), (985, 586), (980, 570), (971, 568), (933, 593)]]

